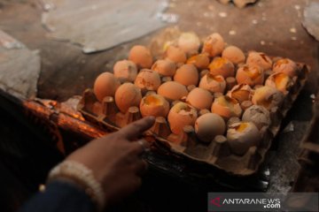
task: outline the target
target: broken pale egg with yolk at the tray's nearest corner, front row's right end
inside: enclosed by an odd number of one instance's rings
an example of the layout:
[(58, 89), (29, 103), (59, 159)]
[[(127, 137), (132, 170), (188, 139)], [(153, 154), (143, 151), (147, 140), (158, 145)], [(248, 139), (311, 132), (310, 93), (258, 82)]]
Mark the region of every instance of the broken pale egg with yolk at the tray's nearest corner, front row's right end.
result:
[(252, 122), (240, 122), (230, 125), (227, 141), (230, 150), (236, 155), (244, 155), (247, 150), (257, 146), (261, 140), (258, 128)]

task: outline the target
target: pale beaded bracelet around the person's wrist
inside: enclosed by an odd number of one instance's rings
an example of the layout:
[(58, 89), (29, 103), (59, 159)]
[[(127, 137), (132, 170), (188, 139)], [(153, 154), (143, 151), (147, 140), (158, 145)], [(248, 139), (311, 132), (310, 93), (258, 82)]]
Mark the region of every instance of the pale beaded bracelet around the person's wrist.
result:
[(68, 178), (77, 186), (82, 187), (90, 199), (97, 204), (97, 210), (102, 211), (105, 206), (105, 193), (92, 170), (82, 163), (65, 161), (50, 171), (47, 182), (50, 183), (58, 178)]

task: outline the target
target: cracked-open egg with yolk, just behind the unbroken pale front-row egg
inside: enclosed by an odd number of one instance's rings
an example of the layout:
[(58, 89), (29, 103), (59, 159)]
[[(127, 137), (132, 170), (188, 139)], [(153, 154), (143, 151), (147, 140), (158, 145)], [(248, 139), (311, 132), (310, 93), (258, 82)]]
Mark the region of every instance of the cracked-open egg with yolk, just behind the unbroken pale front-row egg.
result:
[(242, 111), (237, 100), (227, 95), (216, 98), (212, 105), (212, 112), (220, 115), (225, 120), (228, 120), (230, 117), (240, 117)]

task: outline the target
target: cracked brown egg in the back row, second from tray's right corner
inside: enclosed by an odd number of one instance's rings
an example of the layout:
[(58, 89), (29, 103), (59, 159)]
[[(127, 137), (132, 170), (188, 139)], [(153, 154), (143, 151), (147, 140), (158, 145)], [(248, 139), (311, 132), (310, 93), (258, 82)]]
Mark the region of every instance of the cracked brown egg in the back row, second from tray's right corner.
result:
[(246, 64), (249, 66), (259, 66), (261, 69), (267, 71), (272, 67), (271, 59), (262, 52), (251, 51), (248, 53)]

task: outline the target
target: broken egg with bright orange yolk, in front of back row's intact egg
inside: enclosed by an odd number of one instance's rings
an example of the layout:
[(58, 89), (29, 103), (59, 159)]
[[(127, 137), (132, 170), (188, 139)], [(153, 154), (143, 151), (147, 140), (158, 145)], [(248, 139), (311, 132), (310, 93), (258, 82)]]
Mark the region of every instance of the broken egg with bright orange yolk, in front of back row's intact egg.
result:
[(209, 64), (209, 72), (214, 76), (222, 75), (226, 79), (235, 75), (235, 66), (229, 59), (215, 57), (213, 62)]

